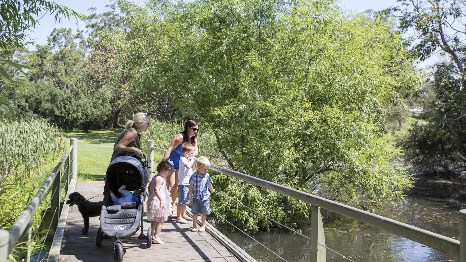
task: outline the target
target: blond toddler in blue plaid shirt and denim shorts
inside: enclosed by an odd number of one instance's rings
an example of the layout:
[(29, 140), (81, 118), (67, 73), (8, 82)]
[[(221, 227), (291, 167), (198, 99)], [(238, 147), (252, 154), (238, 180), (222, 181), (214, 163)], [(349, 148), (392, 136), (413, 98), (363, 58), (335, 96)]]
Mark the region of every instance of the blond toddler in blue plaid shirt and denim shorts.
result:
[[(210, 168), (209, 159), (206, 157), (200, 157), (198, 159), (198, 170), (194, 172), (189, 179), (189, 201), (192, 203), (192, 232), (204, 232), (206, 231), (206, 220), (207, 215), (210, 214), (210, 193), (215, 192), (212, 184), (213, 181), (210, 178), (207, 170)], [(201, 213), (201, 227), (197, 228), (198, 214)]]

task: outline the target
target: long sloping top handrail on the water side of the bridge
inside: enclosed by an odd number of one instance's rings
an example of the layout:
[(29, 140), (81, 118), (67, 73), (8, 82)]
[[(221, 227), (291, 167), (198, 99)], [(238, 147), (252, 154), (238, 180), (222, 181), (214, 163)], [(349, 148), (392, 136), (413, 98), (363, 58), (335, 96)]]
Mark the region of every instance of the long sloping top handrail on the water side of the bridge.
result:
[[(165, 152), (165, 150), (153, 146), (148, 147), (148, 151), (149, 150), (158, 151), (162, 153)], [(321, 207), (331, 212), (341, 214), (345, 217), (364, 222), (376, 228), (384, 229), (385, 231), (390, 232), (392, 234), (397, 234), (401, 237), (410, 239), (412, 241), (416, 241), (431, 248), (438, 249), (447, 254), (459, 257), (460, 262), (466, 262), (466, 209), (462, 209), (459, 211), (460, 240), (463, 240), (460, 242), (458, 240), (451, 239), (441, 234), (433, 233), (431, 231), (422, 228), (417, 228), (409, 224), (405, 224), (403, 222), (386, 218), (381, 215), (372, 214), (370, 212), (355, 207), (350, 207), (348, 205), (328, 200), (313, 194), (304, 193), (287, 186), (272, 183), (267, 180), (249, 176), (247, 174), (236, 172), (218, 165), (211, 165), (211, 169), (226, 175), (230, 175), (236, 179), (249, 182), (256, 186), (261, 186), (274, 192), (281, 193), (298, 200), (302, 200), (316, 207)]]

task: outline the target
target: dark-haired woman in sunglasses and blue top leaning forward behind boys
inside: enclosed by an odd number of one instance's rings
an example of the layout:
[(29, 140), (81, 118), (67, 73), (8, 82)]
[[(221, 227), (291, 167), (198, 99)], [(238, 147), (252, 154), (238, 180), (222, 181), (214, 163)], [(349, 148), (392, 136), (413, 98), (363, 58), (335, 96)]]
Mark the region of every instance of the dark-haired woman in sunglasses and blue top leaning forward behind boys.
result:
[(175, 135), (173, 140), (171, 140), (170, 145), (165, 152), (164, 159), (170, 159), (173, 161), (173, 170), (170, 172), (170, 175), (167, 177), (167, 188), (171, 193), (171, 218), (176, 218), (176, 198), (178, 196), (178, 167), (179, 167), (179, 158), (181, 154), (181, 146), (183, 143), (191, 143), (194, 145), (196, 150), (193, 153), (193, 156), (198, 154), (198, 131), (199, 124), (195, 120), (187, 120), (185, 123), (185, 130), (179, 132)]

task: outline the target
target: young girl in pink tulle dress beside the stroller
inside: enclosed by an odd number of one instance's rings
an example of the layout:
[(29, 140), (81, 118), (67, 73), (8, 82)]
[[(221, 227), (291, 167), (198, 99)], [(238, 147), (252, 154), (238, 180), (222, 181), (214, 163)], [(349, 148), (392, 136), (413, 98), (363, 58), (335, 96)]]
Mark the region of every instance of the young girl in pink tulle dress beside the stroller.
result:
[(149, 184), (149, 198), (147, 200), (146, 215), (151, 221), (152, 241), (163, 244), (159, 234), (164, 222), (171, 215), (171, 196), (165, 186), (165, 178), (170, 174), (173, 165), (164, 159), (157, 165), (157, 176), (153, 177)]

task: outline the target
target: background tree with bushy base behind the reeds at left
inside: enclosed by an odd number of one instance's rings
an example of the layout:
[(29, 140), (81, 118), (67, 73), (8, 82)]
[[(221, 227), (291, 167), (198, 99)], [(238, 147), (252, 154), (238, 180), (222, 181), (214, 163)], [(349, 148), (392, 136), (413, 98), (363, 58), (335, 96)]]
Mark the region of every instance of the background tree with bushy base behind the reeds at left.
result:
[(54, 29), (47, 45), (28, 56), (21, 106), (65, 130), (102, 127), (110, 105), (109, 94), (89, 90), (83, 81), (84, 48), (76, 44), (71, 29)]

